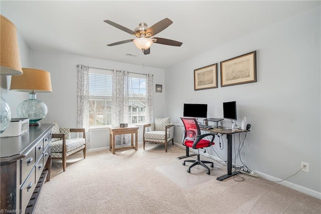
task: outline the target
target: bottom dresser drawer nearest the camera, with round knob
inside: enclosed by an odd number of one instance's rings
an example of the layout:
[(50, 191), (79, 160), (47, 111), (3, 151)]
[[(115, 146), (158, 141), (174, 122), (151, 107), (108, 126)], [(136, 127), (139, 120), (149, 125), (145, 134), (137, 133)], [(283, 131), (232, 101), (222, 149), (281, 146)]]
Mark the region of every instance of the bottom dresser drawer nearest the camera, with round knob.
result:
[(36, 170), (35, 167), (32, 169), (25, 183), (20, 188), (20, 208), (26, 210), (29, 203), (30, 197), (36, 188)]

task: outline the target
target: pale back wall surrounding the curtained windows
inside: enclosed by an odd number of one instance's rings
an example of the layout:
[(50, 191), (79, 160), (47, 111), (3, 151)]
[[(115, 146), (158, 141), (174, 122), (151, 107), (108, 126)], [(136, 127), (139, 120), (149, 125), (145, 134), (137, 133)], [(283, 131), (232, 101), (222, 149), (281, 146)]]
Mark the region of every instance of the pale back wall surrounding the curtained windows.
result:
[[(118, 63), (83, 56), (31, 50), (31, 65), (34, 68), (50, 72), (52, 93), (38, 93), (37, 98), (44, 101), (48, 107), (46, 118), (41, 123), (57, 121), (60, 127), (76, 127), (77, 118), (77, 72), (76, 65), (84, 64), (90, 67), (105, 69), (122, 69), (135, 73), (153, 74), (153, 88), (155, 84), (165, 84), (164, 69), (142, 67), (137, 65)], [(165, 87), (164, 87), (165, 88)], [(165, 93), (155, 93), (153, 90), (154, 117), (164, 117)], [(141, 142), (139, 129), (139, 139)], [(109, 132), (107, 129), (90, 131), (90, 149), (109, 146)]]

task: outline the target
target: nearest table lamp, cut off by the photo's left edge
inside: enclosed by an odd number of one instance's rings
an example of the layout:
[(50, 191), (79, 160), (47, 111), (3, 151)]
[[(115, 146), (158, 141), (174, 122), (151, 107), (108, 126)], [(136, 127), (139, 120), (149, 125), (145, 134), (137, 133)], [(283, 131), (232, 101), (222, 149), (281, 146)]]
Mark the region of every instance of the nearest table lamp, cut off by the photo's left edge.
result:
[[(16, 26), (2, 15), (0, 15), (0, 34), (0, 75), (22, 74)], [(4, 98), (1, 97), (0, 101), (1, 134), (11, 122), (11, 110)]]

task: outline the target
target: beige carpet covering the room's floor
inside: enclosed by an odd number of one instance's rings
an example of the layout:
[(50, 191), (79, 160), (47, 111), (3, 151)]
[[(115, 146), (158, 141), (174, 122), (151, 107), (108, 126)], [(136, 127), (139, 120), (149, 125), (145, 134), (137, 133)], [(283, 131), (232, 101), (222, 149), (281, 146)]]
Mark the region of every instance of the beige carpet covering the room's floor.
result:
[(321, 200), (273, 182), (217, 181), (226, 173), (217, 162), (211, 175), (188, 173), (190, 163), (177, 159), (185, 150), (176, 146), (145, 149), (70, 157), (66, 172), (54, 160), (35, 213), (321, 213)]

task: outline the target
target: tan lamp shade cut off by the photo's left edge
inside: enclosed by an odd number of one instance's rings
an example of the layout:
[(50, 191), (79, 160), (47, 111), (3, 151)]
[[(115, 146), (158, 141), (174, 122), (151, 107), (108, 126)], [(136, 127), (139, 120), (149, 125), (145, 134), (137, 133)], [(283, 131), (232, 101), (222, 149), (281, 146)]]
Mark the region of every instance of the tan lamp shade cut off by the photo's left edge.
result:
[(21, 68), (16, 26), (6, 17), (0, 16), (0, 75), (20, 75), (23, 71)]

